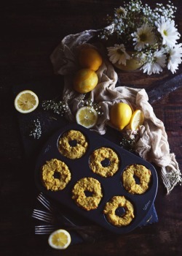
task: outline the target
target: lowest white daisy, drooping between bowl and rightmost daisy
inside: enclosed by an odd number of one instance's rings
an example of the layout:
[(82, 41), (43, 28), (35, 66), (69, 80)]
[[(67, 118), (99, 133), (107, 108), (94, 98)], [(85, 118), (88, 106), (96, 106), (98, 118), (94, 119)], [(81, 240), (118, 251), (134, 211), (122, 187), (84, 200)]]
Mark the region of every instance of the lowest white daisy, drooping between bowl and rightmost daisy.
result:
[(151, 56), (151, 59), (148, 60), (146, 64), (143, 65), (141, 69), (143, 69), (143, 73), (146, 73), (148, 75), (159, 74), (159, 72), (162, 72), (162, 67), (165, 67), (165, 50), (159, 50), (154, 53), (153, 56)]

